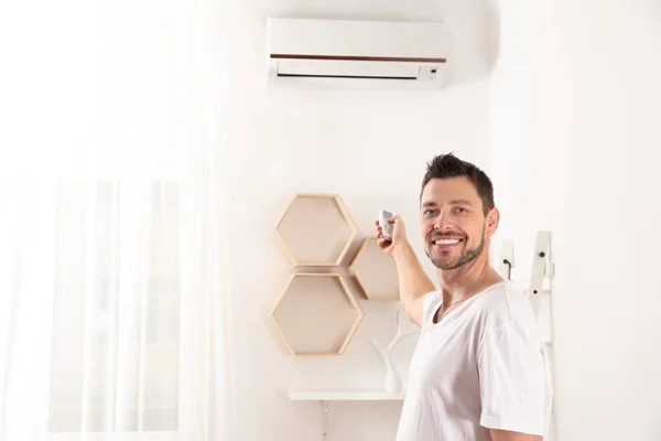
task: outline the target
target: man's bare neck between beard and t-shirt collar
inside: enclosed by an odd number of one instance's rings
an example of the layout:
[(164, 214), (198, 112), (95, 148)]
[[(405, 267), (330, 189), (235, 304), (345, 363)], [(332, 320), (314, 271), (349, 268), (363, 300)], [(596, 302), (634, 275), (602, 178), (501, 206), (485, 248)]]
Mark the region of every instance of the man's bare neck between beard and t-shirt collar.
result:
[(489, 265), (488, 256), (485, 255), (457, 269), (447, 271), (437, 269), (436, 273), (443, 294), (443, 304), (446, 305), (466, 300), (503, 280), (498, 271)]

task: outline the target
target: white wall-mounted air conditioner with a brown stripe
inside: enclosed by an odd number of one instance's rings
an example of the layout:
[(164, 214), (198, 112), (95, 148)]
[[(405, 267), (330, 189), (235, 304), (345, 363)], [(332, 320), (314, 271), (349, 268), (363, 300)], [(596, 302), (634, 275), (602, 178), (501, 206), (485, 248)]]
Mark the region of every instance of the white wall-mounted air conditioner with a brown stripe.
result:
[(269, 79), (294, 85), (440, 88), (441, 23), (268, 19)]

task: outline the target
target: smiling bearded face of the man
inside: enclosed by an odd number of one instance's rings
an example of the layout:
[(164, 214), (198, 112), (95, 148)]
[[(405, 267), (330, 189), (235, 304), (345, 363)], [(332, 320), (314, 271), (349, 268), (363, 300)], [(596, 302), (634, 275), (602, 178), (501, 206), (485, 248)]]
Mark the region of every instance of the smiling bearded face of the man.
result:
[(494, 208), (485, 217), (477, 189), (467, 178), (431, 180), (420, 203), (424, 249), (436, 268), (459, 268), (485, 251), (487, 237), (496, 230), (498, 212)]

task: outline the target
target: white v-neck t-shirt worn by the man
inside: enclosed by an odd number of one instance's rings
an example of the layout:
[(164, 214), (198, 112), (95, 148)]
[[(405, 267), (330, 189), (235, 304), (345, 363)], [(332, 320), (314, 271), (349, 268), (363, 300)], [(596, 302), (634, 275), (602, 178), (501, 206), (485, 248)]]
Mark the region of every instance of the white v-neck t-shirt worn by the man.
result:
[(489, 429), (543, 434), (551, 370), (532, 306), (511, 281), (496, 283), (446, 314), (423, 299), (397, 441), (489, 441)]

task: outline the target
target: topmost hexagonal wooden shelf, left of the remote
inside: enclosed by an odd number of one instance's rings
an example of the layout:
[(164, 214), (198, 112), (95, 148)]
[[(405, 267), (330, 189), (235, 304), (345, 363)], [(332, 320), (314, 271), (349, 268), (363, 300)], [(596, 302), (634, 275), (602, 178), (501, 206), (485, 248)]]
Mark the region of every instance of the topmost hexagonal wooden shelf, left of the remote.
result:
[(336, 194), (297, 194), (275, 228), (295, 267), (342, 263), (358, 227)]

